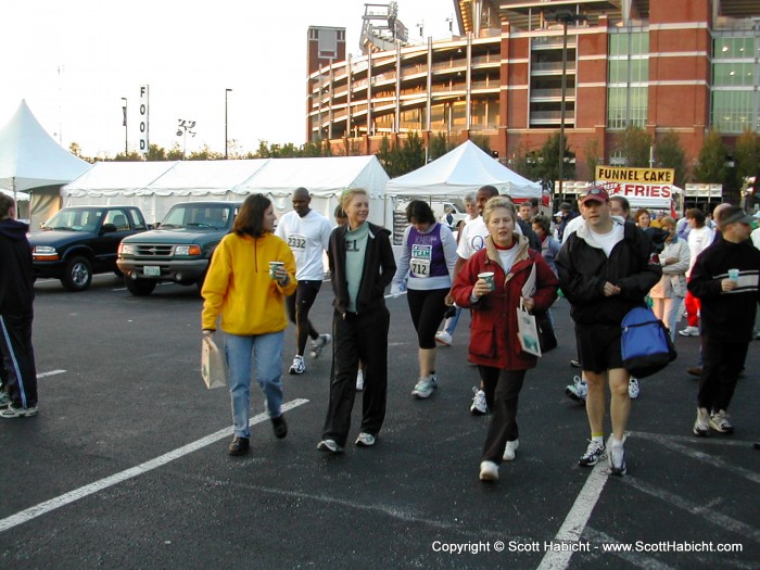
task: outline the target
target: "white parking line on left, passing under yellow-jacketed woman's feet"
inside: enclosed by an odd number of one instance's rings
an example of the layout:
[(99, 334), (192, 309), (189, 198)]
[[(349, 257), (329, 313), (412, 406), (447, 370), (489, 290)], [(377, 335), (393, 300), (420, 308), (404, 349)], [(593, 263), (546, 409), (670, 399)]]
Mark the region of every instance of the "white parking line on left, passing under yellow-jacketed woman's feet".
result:
[[(282, 404), (282, 411), (288, 411), (289, 409), (303, 406), (307, 403), (308, 400), (293, 400), (292, 402)], [(258, 414), (257, 416), (251, 418), (251, 420), (249, 421), (249, 426), (254, 426), (268, 419), (268, 414)], [(13, 527), (17, 527), (18, 524), (23, 524), (24, 522), (27, 522), (41, 515), (45, 515), (46, 512), (50, 512), (51, 510), (54, 510), (59, 507), (63, 507), (65, 505), (74, 503), (75, 501), (79, 501), (80, 498), (84, 498), (93, 493), (98, 493), (99, 491), (113, 486), (117, 483), (122, 483), (123, 481), (127, 481), (128, 479), (132, 479), (134, 477), (147, 473), (148, 471), (151, 471), (156, 467), (162, 467), (170, 461), (174, 461), (175, 459), (179, 459), (185, 455), (188, 455), (192, 452), (205, 447), (206, 445), (211, 445), (212, 443), (227, 438), (229, 436), (229, 434), (230, 428), (225, 428), (215, 433), (212, 433), (211, 435), (206, 435), (205, 438), (201, 438), (200, 440), (189, 443), (188, 445), (183, 445), (182, 447), (161, 455), (155, 459), (151, 459), (150, 461), (145, 461), (144, 464), (140, 464), (119, 473), (112, 474), (111, 477), (106, 477), (104, 479), (101, 479), (100, 481), (90, 483), (89, 485), (80, 486), (79, 489), (75, 489), (74, 491), (64, 493), (61, 496), (51, 498), (50, 501), (46, 501), (45, 503), (40, 503), (39, 505), (35, 505), (34, 507), (29, 507), (25, 510), (22, 510), (21, 512), (16, 512), (15, 515), (11, 515), (10, 517), (0, 520), (0, 532), (12, 529)]]

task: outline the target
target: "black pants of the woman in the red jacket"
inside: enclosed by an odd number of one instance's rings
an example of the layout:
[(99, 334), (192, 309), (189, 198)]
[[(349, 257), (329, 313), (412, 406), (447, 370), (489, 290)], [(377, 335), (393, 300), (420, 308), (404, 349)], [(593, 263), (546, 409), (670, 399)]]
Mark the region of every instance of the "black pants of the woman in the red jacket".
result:
[(489, 408), (493, 410), (483, 445), (482, 461), (502, 463), (508, 441), (520, 435), (517, 427), (517, 403), (527, 370), (501, 370), (479, 366)]

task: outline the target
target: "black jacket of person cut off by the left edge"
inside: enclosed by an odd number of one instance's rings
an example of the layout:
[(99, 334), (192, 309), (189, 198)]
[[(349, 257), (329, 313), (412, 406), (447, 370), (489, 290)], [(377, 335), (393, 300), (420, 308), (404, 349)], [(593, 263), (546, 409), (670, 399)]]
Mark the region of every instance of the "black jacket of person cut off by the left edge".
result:
[(0, 220), (0, 315), (31, 313), (35, 299), (29, 226)]

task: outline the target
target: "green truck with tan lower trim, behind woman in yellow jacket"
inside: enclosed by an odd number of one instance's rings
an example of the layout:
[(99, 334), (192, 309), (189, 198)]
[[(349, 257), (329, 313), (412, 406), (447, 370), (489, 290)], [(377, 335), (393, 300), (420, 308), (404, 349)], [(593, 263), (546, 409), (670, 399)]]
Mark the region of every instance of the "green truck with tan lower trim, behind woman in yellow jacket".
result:
[(195, 284), (200, 291), (214, 250), (232, 230), (242, 202), (182, 202), (157, 229), (132, 236), (116, 264), (132, 295), (150, 295), (160, 281)]

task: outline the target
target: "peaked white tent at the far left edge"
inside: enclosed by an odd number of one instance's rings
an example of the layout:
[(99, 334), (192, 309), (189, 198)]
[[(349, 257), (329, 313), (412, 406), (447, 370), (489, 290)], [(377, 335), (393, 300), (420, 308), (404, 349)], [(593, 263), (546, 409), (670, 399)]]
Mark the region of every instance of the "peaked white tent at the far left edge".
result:
[(15, 193), (16, 198), (20, 191), (30, 191), (33, 218), (37, 214), (42, 220), (49, 212), (55, 212), (60, 203), (59, 187), (88, 168), (89, 163), (61, 148), (48, 135), (26, 101), (21, 102), (0, 129), (0, 189)]

